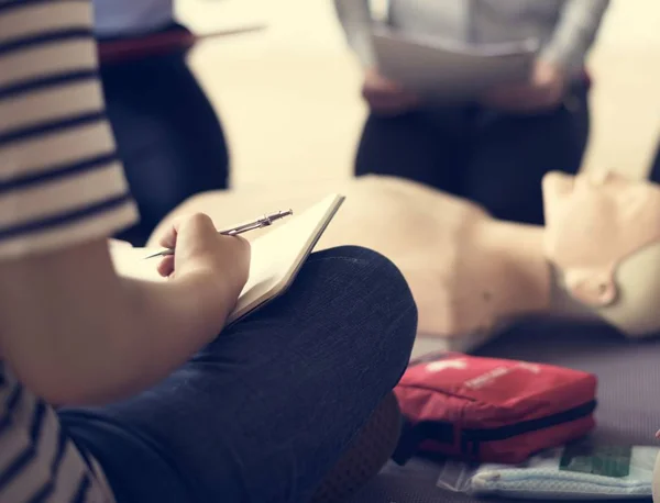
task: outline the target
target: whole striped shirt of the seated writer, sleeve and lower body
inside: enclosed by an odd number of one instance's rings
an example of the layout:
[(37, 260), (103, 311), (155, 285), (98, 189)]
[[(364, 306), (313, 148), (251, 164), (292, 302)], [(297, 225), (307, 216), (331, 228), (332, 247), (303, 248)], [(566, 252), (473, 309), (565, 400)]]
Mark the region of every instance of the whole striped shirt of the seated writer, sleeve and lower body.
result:
[[(0, 0), (0, 259), (109, 236), (129, 194), (90, 0)], [(111, 502), (98, 463), (0, 361), (0, 502)]]

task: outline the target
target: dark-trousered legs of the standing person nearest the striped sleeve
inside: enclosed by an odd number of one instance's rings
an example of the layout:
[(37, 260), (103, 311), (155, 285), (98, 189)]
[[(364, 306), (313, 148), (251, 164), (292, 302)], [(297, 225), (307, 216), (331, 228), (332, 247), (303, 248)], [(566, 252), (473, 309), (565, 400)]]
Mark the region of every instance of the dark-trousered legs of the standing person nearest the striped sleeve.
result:
[(227, 188), (220, 122), (184, 53), (101, 69), (108, 116), (141, 222), (121, 238), (143, 245), (184, 200)]

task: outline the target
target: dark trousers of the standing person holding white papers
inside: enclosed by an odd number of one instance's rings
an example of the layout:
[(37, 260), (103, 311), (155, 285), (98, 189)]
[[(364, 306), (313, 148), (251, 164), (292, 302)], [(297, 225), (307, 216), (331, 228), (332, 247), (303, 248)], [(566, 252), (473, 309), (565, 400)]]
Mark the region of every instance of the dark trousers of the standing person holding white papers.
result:
[(411, 179), (483, 205), (497, 219), (543, 222), (541, 180), (575, 174), (590, 130), (588, 89), (580, 82), (565, 104), (535, 115), (480, 107), (370, 115), (355, 175)]

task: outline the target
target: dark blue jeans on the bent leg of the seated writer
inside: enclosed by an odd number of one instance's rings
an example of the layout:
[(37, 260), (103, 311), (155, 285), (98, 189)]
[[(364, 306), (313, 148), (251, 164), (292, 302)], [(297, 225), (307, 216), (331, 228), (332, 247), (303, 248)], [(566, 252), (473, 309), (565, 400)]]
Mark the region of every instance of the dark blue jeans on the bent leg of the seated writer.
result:
[(119, 503), (304, 502), (398, 382), (416, 325), (392, 262), (324, 250), (155, 388), (59, 414)]

